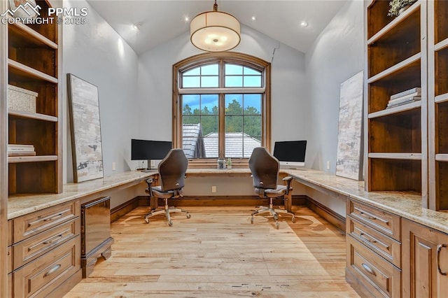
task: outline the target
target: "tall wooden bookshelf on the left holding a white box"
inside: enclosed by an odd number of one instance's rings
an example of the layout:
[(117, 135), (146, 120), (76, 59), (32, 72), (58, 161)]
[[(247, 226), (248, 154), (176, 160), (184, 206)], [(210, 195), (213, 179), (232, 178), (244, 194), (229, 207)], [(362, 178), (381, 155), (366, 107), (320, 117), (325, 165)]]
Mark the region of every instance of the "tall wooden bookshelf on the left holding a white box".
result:
[[(37, 0), (39, 17), (49, 1)], [(62, 192), (62, 122), (59, 40), (61, 26), (8, 24), (8, 85), (36, 92), (36, 112), (8, 110), (11, 145), (31, 145), (35, 155), (8, 157), (8, 194)]]

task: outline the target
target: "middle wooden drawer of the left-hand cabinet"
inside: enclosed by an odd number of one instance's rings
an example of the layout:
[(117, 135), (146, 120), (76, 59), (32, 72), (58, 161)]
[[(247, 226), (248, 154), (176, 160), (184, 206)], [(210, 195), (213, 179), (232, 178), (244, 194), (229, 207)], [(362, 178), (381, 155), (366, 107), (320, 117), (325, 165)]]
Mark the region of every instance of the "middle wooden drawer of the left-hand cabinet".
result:
[(20, 241), (13, 245), (14, 269), (47, 253), (52, 248), (80, 234), (80, 218), (74, 218), (62, 225)]

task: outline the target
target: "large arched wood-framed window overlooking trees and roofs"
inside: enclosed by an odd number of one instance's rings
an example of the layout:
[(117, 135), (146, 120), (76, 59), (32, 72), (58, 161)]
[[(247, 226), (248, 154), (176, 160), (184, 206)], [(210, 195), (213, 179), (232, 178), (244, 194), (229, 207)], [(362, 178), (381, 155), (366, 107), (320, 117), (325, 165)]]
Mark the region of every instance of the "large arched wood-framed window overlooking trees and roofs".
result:
[(244, 164), (253, 148), (270, 146), (270, 64), (235, 52), (174, 64), (173, 121), (174, 146), (189, 159)]

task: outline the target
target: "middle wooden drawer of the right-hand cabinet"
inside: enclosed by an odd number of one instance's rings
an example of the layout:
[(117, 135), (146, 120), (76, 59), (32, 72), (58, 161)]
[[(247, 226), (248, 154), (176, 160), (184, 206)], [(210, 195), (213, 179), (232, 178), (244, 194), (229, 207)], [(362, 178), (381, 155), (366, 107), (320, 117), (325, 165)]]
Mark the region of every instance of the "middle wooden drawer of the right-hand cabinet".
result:
[(359, 222), (347, 216), (346, 218), (347, 234), (360, 241), (365, 246), (381, 255), (386, 260), (401, 268), (401, 243), (395, 241), (376, 229)]

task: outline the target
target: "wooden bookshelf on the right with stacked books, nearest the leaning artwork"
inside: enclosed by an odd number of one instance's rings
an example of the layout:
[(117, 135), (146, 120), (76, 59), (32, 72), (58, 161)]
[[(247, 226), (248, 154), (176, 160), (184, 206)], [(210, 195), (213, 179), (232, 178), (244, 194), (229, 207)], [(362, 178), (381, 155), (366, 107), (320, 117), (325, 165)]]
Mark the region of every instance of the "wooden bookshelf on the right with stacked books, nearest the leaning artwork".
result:
[[(418, 192), (426, 201), (426, 2), (417, 1), (397, 17), (388, 16), (388, 2), (372, 1), (366, 10), (365, 187)], [(391, 104), (414, 88), (418, 98)]]

